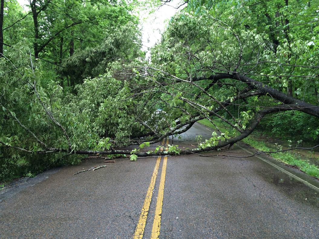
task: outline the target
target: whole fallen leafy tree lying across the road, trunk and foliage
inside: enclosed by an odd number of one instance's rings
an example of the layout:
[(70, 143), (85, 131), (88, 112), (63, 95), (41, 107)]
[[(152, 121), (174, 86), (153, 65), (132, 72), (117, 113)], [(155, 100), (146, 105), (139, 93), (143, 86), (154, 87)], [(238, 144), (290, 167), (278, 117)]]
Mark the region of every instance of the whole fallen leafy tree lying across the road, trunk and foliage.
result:
[[(245, 11), (238, 14), (244, 18)], [(264, 32), (219, 17), (176, 15), (153, 47), (151, 62), (138, 57), (109, 62), (104, 74), (85, 78), (71, 90), (44, 81), (41, 61), (35, 62), (23, 44), (16, 46), (19, 51), (8, 50), (0, 59), (1, 69), (6, 68), (0, 82), (2, 166), (19, 160), (45, 161), (46, 166), (78, 163), (76, 155), (130, 155), (136, 160), (200, 154), (230, 148), (278, 115), (303, 112), (309, 121), (319, 118), (317, 90), (310, 87), (318, 80), (319, 62), (312, 45), (296, 40), (294, 48), (288, 47), (283, 38), (275, 50)], [(104, 51), (88, 54), (109, 61)], [(71, 60), (77, 68), (87, 66), (83, 59)], [(299, 87), (294, 96), (290, 83)], [(193, 149), (171, 145), (159, 150), (163, 139), (177, 137), (202, 119), (215, 125), (211, 139)], [(230, 130), (220, 129), (221, 122)], [(142, 150), (150, 145), (156, 149)], [(126, 149), (130, 146), (135, 149)]]

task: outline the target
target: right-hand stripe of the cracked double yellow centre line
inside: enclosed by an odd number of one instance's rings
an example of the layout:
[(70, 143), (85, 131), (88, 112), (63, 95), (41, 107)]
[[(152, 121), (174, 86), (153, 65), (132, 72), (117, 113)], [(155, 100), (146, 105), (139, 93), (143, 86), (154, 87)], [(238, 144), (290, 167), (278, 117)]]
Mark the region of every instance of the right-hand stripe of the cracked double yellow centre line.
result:
[(159, 194), (157, 196), (151, 239), (159, 238), (160, 221), (162, 217), (161, 215), (162, 215), (163, 197), (164, 197), (166, 165), (167, 165), (167, 156), (164, 157), (164, 161), (163, 161), (162, 174), (161, 174), (160, 183), (159, 183)]

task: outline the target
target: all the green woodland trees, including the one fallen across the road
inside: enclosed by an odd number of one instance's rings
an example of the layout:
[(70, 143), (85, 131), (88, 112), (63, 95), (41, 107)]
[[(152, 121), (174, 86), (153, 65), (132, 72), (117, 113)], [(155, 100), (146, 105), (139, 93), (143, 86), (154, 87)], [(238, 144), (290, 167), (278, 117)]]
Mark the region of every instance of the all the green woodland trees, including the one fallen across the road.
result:
[[(172, 0), (0, 1), (0, 179), (254, 131), (319, 142), (318, 0), (180, 1), (150, 57), (140, 12)], [(200, 120), (210, 140), (156, 147)]]

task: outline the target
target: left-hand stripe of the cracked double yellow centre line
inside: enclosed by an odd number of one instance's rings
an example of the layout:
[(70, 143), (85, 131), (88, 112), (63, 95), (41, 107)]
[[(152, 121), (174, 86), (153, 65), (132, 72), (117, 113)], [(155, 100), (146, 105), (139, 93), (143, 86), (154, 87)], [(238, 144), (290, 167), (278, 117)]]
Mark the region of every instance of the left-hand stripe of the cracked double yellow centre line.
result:
[(153, 171), (153, 174), (151, 177), (151, 183), (148, 187), (148, 190), (147, 190), (147, 193), (145, 196), (144, 205), (143, 205), (143, 208), (141, 211), (141, 215), (139, 217), (139, 220), (138, 220), (138, 223), (137, 223), (137, 226), (135, 229), (134, 239), (143, 238), (147, 214), (148, 214), (148, 211), (150, 209), (150, 204), (151, 204), (151, 200), (152, 200), (152, 195), (153, 195), (153, 190), (154, 190), (155, 181), (156, 181), (156, 177), (157, 177), (157, 172), (159, 169), (160, 159), (161, 159), (161, 156), (158, 156), (156, 163), (155, 163), (155, 168), (154, 168), (154, 171)]

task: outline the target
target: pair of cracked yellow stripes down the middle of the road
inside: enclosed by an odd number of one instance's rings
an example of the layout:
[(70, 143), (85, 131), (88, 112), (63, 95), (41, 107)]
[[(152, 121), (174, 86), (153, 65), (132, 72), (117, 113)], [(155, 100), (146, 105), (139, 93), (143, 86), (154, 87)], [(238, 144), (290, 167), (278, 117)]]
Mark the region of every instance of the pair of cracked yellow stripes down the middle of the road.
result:
[[(162, 144), (164, 144), (165, 139), (163, 139)], [(168, 139), (166, 140), (166, 144), (168, 144)], [(165, 148), (167, 150), (167, 147)], [(163, 148), (160, 149), (163, 151)], [(151, 183), (148, 187), (144, 204), (142, 207), (142, 211), (137, 223), (137, 227), (135, 229), (134, 239), (143, 238), (144, 229), (146, 225), (147, 215), (150, 209), (150, 204), (152, 201), (153, 190), (155, 187), (156, 177), (159, 169), (159, 163), (161, 160), (161, 156), (158, 156), (155, 168), (151, 177)], [(162, 206), (163, 206), (163, 197), (164, 197), (164, 185), (165, 185), (165, 175), (166, 175), (166, 165), (167, 165), (167, 156), (164, 156), (163, 166), (162, 166), (162, 173), (159, 182), (159, 193), (157, 196), (156, 208), (155, 208), (155, 216), (153, 221), (153, 228), (152, 228), (152, 235), (151, 239), (159, 238), (159, 230), (160, 230), (160, 221), (161, 221), (161, 214), (162, 214)]]

